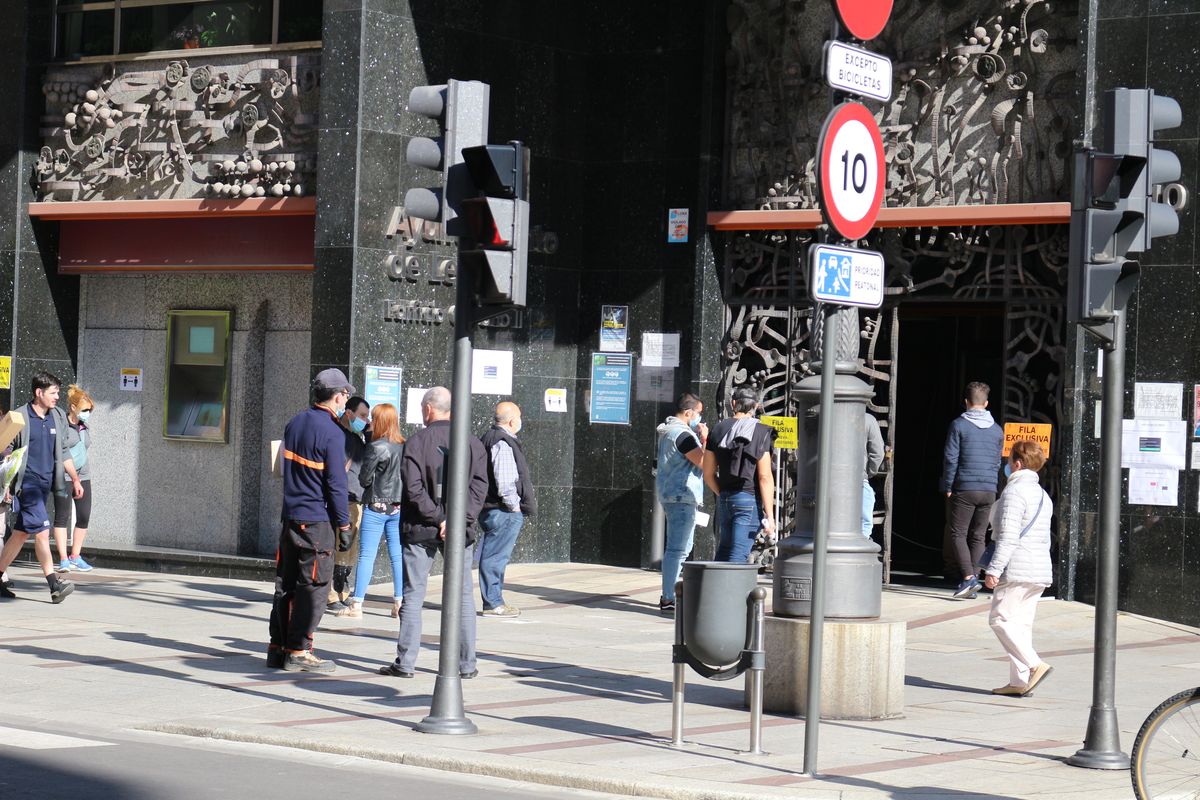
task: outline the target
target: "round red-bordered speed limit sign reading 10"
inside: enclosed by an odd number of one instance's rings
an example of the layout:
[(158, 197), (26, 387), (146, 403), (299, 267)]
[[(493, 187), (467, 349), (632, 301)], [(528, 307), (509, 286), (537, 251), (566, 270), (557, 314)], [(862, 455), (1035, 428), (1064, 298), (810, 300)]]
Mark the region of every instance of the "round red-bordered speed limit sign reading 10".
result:
[(883, 138), (862, 103), (841, 103), (826, 118), (817, 149), (821, 211), (851, 241), (875, 227), (883, 203)]

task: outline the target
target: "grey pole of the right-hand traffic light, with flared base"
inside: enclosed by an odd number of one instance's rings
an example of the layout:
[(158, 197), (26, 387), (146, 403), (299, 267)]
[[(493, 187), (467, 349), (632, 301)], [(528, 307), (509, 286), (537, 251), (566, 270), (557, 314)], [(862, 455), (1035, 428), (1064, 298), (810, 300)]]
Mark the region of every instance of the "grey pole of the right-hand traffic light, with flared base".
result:
[(1117, 282), (1111, 338), (1104, 342), (1104, 403), (1100, 420), (1100, 536), (1096, 564), (1096, 649), (1092, 656), (1092, 710), (1084, 747), (1067, 759), (1072, 766), (1129, 769), (1117, 727), (1117, 572), (1121, 547), (1121, 419), (1124, 416), (1126, 314), (1136, 283)]

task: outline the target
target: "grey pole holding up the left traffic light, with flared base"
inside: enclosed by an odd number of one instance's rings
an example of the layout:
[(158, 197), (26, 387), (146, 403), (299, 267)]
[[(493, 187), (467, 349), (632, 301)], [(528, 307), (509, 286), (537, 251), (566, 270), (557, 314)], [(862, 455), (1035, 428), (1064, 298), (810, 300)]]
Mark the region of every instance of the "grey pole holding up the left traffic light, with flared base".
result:
[[(470, 331), (474, 296), (470, 277), (455, 281), (454, 383), (450, 410), (450, 474), (446, 476), (446, 535), (442, 547), (442, 637), (438, 678), (430, 715), (416, 724), (421, 733), (479, 733), (462, 704), (458, 651), (462, 646), (462, 581), (467, 558), (467, 504), (470, 499)], [(420, 610), (420, 609), (418, 609)]]

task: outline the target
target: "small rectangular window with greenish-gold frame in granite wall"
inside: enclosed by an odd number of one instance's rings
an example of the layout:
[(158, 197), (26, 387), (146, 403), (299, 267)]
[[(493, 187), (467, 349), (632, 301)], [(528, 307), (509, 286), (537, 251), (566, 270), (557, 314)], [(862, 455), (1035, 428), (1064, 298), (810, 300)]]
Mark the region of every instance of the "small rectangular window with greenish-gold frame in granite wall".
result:
[(232, 312), (167, 312), (168, 439), (228, 441)]

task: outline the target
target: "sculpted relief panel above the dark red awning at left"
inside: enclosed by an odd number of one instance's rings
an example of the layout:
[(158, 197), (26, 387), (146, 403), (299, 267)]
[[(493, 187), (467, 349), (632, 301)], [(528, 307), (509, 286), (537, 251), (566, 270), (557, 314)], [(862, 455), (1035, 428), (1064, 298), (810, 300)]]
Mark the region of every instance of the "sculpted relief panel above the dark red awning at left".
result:
[(38, 199), (233, 199), (312, 191), (319, 54), (131, 66), (47, 72)]

